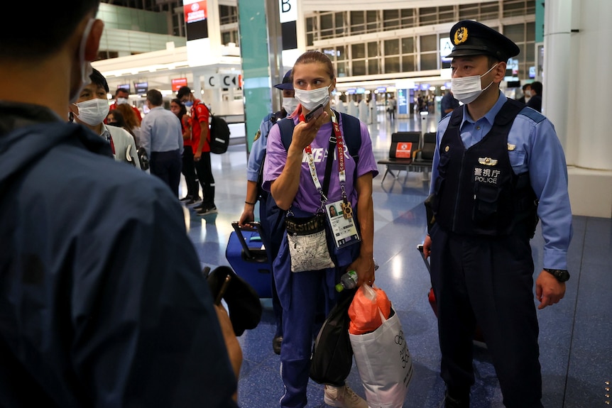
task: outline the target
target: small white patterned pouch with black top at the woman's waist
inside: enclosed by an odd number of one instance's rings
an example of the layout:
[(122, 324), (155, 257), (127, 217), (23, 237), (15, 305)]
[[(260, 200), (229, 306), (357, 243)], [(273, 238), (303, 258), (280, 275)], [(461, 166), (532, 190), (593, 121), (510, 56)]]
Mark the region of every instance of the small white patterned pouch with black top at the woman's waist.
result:
[(286, 217), (291, 272), (334, 268), (327, 249), (325, 216)]

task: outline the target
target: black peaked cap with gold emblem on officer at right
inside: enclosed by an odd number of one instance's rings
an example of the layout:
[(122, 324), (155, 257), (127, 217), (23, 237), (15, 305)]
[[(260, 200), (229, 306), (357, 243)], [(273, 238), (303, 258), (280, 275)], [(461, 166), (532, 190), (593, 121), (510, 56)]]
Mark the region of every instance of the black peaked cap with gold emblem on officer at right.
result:
[(510, 38), (476, 21), (459, 21), (451, 28), (449, 36), (454, 45), (449, 57), (491, 55), (506, 62), (508, 58), (520, 53)]

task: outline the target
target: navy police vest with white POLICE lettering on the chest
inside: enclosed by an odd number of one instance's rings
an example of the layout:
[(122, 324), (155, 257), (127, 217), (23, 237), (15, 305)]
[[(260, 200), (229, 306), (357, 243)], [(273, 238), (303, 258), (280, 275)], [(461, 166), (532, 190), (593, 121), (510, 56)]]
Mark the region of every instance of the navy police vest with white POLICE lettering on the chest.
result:
[(533, 235), (537, 199), (529, 173), (515, 175), (508, 156), (508, 133), (523, 107), (508, 99), (491, 131), (469, 149), (459, 130), (465, 107), (452, 112), (439, 145), (439, 177), (435, 180), (435, 220), (446, 231), (504, 236), (525, 221)]

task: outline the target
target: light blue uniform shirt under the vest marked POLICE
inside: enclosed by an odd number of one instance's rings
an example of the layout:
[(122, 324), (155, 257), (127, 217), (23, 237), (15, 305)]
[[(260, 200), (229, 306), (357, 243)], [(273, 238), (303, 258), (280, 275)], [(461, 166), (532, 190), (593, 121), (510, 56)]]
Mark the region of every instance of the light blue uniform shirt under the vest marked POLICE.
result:
[[(506, 103), (500, 92), (498, 101), (478, 121), (466, 109), (461, 120), (461, 140), (466, 149), (478, 143), (493, 126), (495, 116)], [(450, 115), (440, 121), (436, 135), (437, 149), (432, 165), (433, 192), (438, 177), (440, 141), (449, 125)], [(533, 109), (523, 109), (515, 118), (508, 134), (508, 155), (515, 174), (529, 171), (530, 182), (540, 199), (537, 214), (542, 219), (545, 239), (543, 263), (545, 268), (567, 269), (567, 249), (572, 239), (572, 210), (567, 193), (567, 165), (563, 148), (552, 123)]]

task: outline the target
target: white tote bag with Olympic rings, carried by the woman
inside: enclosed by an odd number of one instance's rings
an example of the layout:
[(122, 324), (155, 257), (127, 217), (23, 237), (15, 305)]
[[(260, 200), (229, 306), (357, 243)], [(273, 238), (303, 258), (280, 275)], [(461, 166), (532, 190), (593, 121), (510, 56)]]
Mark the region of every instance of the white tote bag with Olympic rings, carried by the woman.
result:
[(370, 408), (401, 408), (412, 380), (412, 358), (402, 324), (393, 307), (393, 316), (375, 331), (349, 334), (355, 363)]

